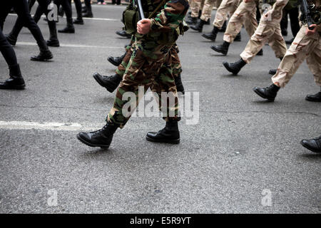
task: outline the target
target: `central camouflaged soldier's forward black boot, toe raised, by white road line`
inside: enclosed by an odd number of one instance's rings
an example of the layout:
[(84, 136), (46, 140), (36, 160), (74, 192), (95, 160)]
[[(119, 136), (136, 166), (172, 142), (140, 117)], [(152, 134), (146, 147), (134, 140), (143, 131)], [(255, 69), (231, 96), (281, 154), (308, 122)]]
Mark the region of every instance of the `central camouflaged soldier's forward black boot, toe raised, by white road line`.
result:
[(79, 141), (90, 147), (101, 147), (107, 150), (113, 140), (113, 134), (116, 132), (119, 125), (115, 123), (107, 123), (100, 130), (91, 133), (79, 133), (77, 138)]

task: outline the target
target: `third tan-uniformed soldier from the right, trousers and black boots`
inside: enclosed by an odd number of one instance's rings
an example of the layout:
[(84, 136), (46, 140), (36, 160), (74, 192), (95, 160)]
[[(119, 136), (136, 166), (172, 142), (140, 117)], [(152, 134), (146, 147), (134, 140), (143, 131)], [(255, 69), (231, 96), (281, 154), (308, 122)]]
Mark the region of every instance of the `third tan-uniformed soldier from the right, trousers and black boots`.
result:
[[(258, 21), (256, 20), (257, 6), (258, 0), (243, 0), (230, 18), (230, 21), (228, 21), (228, 28), (226, 28), (223, 37), (224, 42), (218, 46), (211, 46), (210, 48), (226, 55), (230, 43), (233, 43), (233, 41), (240, 41), (239, 34), (243, 25), (248, 32), (248, 36), (253, 36), (256, 28), (258, 28)], [(263, 51), (261, 50), (258, 53), (258, 56), (262, 55)]]

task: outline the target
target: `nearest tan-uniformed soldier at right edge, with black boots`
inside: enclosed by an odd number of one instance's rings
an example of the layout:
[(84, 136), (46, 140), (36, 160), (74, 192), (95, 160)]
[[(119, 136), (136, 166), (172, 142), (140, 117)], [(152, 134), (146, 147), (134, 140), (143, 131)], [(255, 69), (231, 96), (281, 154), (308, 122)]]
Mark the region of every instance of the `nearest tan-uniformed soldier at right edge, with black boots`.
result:
[[(321, 11), (321, 1), (313, 0), (313, 3)], [(300, 28), (278, 66), (277, 73), (272, 76), (272, 85), (267, 88), (253, 88), (260, 97), (274, 101), (278, 90), (287, 85), (305, 58), (315, 83), (321, 87), (321, 25), (312, 24), (310, 27), (314, 29), (308, 29), (307, 24)], [(315, 95), (307, 95), (305, 100), (321, 102), (321, 90)]]

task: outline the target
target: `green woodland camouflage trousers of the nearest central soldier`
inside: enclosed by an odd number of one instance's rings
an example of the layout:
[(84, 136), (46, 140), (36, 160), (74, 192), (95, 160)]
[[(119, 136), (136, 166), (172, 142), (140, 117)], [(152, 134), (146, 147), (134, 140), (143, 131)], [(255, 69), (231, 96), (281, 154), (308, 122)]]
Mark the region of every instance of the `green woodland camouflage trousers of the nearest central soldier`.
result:
[[(145, 46), (153, 46), (153, 51), (147, 51)], [(128, 110), (130, 114), (135, 111), (139, 100), (142, 98), (139, 97), (140, 94), (138, 93), (140, 86), (143, 87), (143, 93), (146, 93), (150, 88), (153, 93), (158, 95), (156, 96), (158, 107), (162, 111), (165, 109), (163, 118), (166, 121), (180, 120), (178, 116), (178, 95), (172, 69), (173, 58), (170, 53), (171, 46), (157, 45), (156, 41), (146, 42), (141, 39), (136, 40), (132, 48), (131, 58), (123, 74), (123, 80), (117, 89), (113, 108), (108, 113), (107, 121), (120, 125), (120, 128), (126, 125), (131, 116), (123, 114), (124, 105), (130, 107), (130, 110)], [(126, 92), (135, 94), (136, 99), (124, 98)], [(164, 98), (162, 92), (171, 94), (174, 102), (168, 102), (168, 97)]]

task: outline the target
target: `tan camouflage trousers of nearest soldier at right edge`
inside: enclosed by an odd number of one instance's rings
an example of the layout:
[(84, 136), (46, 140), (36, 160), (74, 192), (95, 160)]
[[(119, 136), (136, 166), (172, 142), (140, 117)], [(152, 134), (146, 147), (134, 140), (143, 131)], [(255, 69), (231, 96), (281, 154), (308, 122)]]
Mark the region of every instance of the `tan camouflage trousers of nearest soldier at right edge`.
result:
[(315, 83), (321, 86), (321, 36), (318, 33), (306, 36), (306, 29), (306, 25), (300, 28), (278, 66), (277, 73), (272, 77), (272, 82), (281, 88), (287, 85), (305, 58), (307, 58), (307, 66), (315, 78)]

